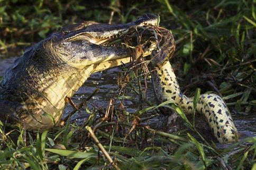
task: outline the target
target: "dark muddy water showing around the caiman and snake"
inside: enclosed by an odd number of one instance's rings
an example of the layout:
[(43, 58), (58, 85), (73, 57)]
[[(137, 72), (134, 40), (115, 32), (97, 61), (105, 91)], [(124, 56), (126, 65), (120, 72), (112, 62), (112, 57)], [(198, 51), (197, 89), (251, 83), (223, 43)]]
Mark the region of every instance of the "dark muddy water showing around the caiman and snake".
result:
[[(0, 75), (2, 76), (5, 70), (10, 67), (13, 61), (16, 58), (8, 58), (8, 59), (0, 59)], [(100, 91), (88, 102), (89, 108), (93, 107), (102, 107), (106, 108), (109, 102), (109, 99), (114, 98), (117, 96), (118, 86), (116, 84), (116, 79), (118, 72), (120, 72), (120, 68), (112, 68), (102, 72), (93, 73), (90, 75), (90, 78), (86, 81), (84, 86), (82, 86), (72, 100), (75, 103), (79, 103), (81, 99), (86, 98), (89, 96), (96, 88), (99, 88)], [(149, 87), (150, 82), (149, 82)], [(131, 89), (126, 88), (126, 95), (134, 97), (132, 100), (126, 99), (124, 100), (124, 105), (126, 106), (127, 111), (135, 112), (137, 108), (139, 108), (139, 99), (134, 95)], [(154, 95), (152, 88), (148, 88), (148, 99), (151, 102), (154, 102)], [(70, 112), (72, 108), (68, 106), (65, 109), (65, 116), (68, 112)], [(78, 111), (74, 116), (72, 116), (72, 120), (76, 120), (78, 124), (82, 124), (85, 119), (88, 117), (88, 114), (85, 110), (81, 109)], [(201, 117), (202, 118), (202, 117)], [(148, 122), (151, 127), (167, 127), (166, 120), (168, 119), (167, 116), (160, 116), (158, 118), (154, 118)], [(235, 120), (236, 127), (239, 131), (242, 131), (245, 134), (256, 135), (256, 115), (251, 116), (237, 116), (233, 115), (233, 119)], [(202, 118), (202, 121), (203, 118)], [(199, 124), (201, 125), (201, 124)], [(206, 132), (207, 133), (207, 132)]]

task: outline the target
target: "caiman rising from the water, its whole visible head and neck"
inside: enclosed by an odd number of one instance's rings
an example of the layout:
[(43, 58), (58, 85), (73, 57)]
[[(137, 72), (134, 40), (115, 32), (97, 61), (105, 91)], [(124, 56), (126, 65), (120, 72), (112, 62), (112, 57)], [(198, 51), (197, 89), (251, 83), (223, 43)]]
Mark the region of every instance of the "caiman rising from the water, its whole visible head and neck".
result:
[(119, 25), (89, 21), (66, 26), (31, 46), (0, 83), (0, 119), (22, 122), (28, 129), (58, 125), (65, 98), (74, 95), (99, 63), (133, 55), (122, 41), (111, 44), (132, 27), (144, 25), (157, 25), (157, 16), (144, 14)]

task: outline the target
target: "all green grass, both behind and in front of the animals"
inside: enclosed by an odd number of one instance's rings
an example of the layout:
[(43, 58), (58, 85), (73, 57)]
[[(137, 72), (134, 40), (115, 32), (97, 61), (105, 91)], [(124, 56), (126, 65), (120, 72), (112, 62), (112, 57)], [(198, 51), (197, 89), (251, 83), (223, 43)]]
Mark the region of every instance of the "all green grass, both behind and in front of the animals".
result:
[[(217, 92), (236, 115), (255, 115), (255, 1), (127, 1), (121, 6), (115, 1), (0, 3), (0, 56), (10, 51), (20, 54), (28, 44), (63, 25), (88, 20), (107, 23), (111, 12), (112, 23), (132, 21), (143, 13), (159, 14), (160, 26), (170, 29), (176, 39), (171, 63), (179, 82), (189, 84), (181, 86), (183, 90), (191, 95), (198, 87), (201, 93)], [(169, 134), (139, 126), (145, 113), (158, 107), (142, 108), (136, 113), (140, 119), (124, 111), (118, 125), (110, 120), (96, 128), (96, 137), (121, 169), (255, 168), (255, 137), (220, 148), (197, 140), (188, 131)], [(177, 106), (172, 108), (196, 131), (194, 121), (189, 122)], [(83, 128), (99, 123), (96, 113), (90, 113), (83, 126), (68, 123), (40, 134), (10, 131), (1, 125), (0, 168), (113, 168)]]

